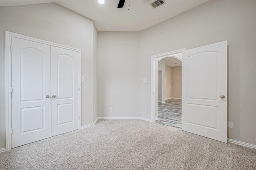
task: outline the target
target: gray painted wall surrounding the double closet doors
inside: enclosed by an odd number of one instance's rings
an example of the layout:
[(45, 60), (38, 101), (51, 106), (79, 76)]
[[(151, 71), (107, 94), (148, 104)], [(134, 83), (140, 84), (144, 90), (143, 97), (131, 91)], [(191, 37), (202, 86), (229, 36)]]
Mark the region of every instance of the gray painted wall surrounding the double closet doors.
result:
[[(96, 106), (97, 30), (92, 20), (58, 4), (0, 8), (0, 148), (5, 147), (4, 31), (82, 50), (82, 126), (94, 122)], [(93, 69), (94, 68), (94, 69)]]

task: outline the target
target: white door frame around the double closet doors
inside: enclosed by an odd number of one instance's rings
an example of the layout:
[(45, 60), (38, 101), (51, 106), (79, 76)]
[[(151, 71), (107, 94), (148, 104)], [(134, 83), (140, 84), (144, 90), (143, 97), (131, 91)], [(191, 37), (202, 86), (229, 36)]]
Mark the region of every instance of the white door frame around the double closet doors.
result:
[(20, 38), (23, 40), (29, 40), (46, 44), (50, 46), (65, 48), (78, 52), (78, 129), (81, 129), (81, 50), (72, 48), (21, 34), (5, 31), (5, 138), (6, 138), (6, 151), (12, 149), (12, 95), (11, 95), (11, 84), (12, 84), (12, 60), (11, 60), (11, 45), (12, 37)]

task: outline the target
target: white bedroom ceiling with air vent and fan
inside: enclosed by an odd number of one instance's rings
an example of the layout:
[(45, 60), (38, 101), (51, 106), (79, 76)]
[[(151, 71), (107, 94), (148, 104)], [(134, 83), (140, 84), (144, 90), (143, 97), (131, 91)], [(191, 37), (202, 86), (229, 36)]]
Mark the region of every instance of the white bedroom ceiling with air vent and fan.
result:
[(117, 8), (119, 0), (1, 0), (0, 6), (16, 6), (55, 2), (94, 21), (98, 31), (142, 31), (208, 0), (165, 0), (166, 4), (152, 9), (154, 0), (125, 1)]

